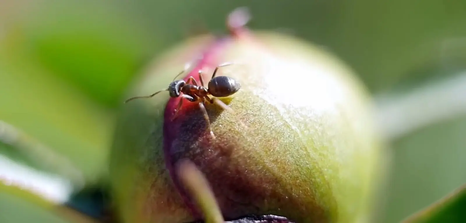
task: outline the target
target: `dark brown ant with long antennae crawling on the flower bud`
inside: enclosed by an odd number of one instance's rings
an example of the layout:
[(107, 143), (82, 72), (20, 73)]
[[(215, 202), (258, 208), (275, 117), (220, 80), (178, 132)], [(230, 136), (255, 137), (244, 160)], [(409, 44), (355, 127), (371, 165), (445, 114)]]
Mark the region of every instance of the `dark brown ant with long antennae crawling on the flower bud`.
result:
[[(130, 98), (126, 100), (125, 103), (128, 101), (137, 99), (137, 98), (151, 98), (163, 91), (168, 91), (170, 94), (170, 97), (172, 98), (181, 97), (191, 102), (198, 102), (199, 107), (201, 108), (201, 111), (204, 115), (204, 118), (206, 119), (207, 128), (209, 129), (209, 132), (212, 138), (215, 138), (215, 135), (212, 132), (212, 128), (210, 127), (210, 120), (209, 120), (209, 116), (207, 114), (207, 110), (205, 107), (205, 102), (208, 101), (212, 104), (216, 103), (220, 107), (226, 109), (227, 111), (234, 113), (233, 109), (228, 107), (224, 102), (220, 101), (217, 98), (212, 99), (209, 97), (209, 95), (212, 95), (213, 97), (227, 97), (227, 96), (233, 95), (234, 93), (238, 92), (238, 90), (240, 90), (240, 87), (241, 87), (240, 83), (236, 81), (235, 79), (231, 77), (227, 77), (227, 76), (217, 76), (217, 77), (215, 76), (219, 68), (227, 66), (227, 65), (232, 65), (232, 64), (233, 63), (224, 63), (224, 64), (217, 66), (215, 70), (213, 71), (212, 78), (207, 84), (207, 88), (204, 87), (205, 85), (204, 85), (204, 80), (202, 78), (202, 70), (199, 70), (199, 79), (201, 81), (201, 85), (198, 85), (197, 81), (192, 76), (189, 77), (188, 81), (184, 81), (184, 80), (175, 81), (175, 79), (179, 75), (185, 73), (186, 71), (185, 69), (175, 76), (173, 81), (168, 85), (168, 88), (160, 90), (152, 95), (137, 96), (137, 97)], [(183, 95), (181, 95), (181, 93), (183, 93)], [(173, 115), (171, 121), (173, 121), (177, 117), (178, 111), (180, 110), (182, 104), (183, 104), (183, 100), (180, 100), (177, 108), (175, 109), (175, 114)]]

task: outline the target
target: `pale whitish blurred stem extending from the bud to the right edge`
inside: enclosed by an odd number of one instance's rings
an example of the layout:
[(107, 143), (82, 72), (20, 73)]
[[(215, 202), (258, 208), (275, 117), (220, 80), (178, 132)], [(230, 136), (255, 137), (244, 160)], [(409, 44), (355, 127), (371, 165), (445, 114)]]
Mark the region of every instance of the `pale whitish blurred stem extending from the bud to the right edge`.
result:
[(389, 140), (466, 114), (466, 72), (414, 88), (376, 96), (377, 122)]

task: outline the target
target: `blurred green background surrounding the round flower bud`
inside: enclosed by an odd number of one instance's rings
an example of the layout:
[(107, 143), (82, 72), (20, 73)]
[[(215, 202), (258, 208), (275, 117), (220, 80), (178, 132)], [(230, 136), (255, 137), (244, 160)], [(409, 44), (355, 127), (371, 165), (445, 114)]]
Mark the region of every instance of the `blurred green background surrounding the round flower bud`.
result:
[[(374, 95), (393, 152), (380, 223), (399, 222), (466, 182), (464, 0), (0, 0), (0, 120), (98, 185), (131, 81), (196, 24), (223, 32), (239, 6), (249, 7), (253, 29), (326, 47)], [(427, 121), (409, 122), (419, 117)], [(31, 157), (0, 142), (1, 223), (67, 222), (5, 180), (32, 171), (17, 164), (57, 171), (34, 162), (45, 153), (35, 149)]]

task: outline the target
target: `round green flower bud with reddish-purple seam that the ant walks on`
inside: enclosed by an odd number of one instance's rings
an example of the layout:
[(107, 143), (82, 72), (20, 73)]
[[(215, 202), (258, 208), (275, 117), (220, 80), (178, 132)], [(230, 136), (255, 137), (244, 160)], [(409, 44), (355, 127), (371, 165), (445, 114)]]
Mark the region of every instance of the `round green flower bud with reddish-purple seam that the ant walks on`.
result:
[[(370, 222), (384, 143), (368, 93), (335, 56), (294, 37), (248, 31), (233, 22), (239, 12), (229, 16), (230, 36), (187, 40), (130, 92), (166, 88), (201, 55), (181, 75), (190, 91), (123, 106), (110, 155), (122, 222)], [(241, 88), (209, 95), (212, 76)]]

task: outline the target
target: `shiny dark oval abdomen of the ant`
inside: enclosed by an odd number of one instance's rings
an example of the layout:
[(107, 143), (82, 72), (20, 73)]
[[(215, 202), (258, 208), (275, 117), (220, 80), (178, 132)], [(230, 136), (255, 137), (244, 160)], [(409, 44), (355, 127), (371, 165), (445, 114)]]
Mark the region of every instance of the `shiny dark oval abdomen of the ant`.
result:
[(227, 97), (240, 90), (240, 83), (231, 77), (218, 76), (209, 81), (207, 89), (214, 97)]

